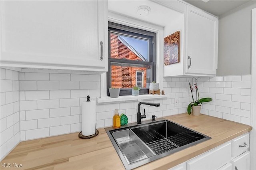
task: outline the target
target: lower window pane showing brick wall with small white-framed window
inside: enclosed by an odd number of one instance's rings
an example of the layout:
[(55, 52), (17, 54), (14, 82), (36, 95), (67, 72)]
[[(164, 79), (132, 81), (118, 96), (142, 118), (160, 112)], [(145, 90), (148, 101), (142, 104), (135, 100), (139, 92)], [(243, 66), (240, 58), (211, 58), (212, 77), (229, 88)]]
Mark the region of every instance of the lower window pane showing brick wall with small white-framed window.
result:
[(128, 89), (148, 88), (151, 82), (151, 65), (111, 62), (111, 87)]

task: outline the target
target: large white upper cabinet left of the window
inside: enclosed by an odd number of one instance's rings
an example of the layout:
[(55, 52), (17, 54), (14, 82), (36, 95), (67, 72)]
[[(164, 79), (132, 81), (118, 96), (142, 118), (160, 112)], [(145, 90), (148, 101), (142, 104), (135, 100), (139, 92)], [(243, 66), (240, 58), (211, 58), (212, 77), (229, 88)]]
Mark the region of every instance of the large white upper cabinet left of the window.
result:
[(1, 66), (108, 71), (107, 4), (1, 1)]

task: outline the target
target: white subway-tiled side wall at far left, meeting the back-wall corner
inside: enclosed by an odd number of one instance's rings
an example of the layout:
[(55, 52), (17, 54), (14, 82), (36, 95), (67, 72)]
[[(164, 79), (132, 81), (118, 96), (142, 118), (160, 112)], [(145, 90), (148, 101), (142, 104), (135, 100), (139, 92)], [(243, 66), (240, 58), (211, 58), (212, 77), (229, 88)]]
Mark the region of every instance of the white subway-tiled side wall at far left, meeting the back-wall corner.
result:
[(19, 73), (1, 68), (1, 160), (20, 142)]

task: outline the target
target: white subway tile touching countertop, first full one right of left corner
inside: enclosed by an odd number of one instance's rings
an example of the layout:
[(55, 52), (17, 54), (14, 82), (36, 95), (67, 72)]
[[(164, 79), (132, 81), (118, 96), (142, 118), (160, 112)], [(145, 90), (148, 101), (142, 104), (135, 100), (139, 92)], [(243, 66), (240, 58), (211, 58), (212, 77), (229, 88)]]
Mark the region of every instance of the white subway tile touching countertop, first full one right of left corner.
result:
[(25, 139), (36, 139), (49, 136), (49, 128), (38, 128), (33, 130), (26, 130)]

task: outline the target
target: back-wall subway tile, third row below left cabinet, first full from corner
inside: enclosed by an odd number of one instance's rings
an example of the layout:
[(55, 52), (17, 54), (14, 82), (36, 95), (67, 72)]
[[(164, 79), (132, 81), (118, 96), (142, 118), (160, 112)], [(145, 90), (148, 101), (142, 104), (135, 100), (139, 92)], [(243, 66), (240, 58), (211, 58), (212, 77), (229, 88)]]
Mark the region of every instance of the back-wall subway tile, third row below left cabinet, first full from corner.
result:
[(48, 90), (25, 91), (25, 99), (26, 101), (50, 99), (50, 95)]

